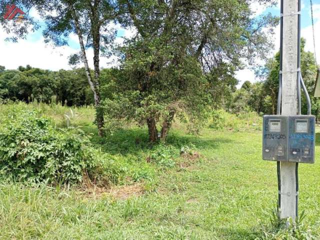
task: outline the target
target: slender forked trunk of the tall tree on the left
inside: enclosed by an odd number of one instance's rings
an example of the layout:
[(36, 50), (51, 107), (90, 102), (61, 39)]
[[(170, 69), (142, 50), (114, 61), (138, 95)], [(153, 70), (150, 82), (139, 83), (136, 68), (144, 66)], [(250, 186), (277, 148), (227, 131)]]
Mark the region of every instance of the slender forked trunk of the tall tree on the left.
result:
[[(72, 7), (72, 6), (71, 6)], [(85, 47), (83, 44), (83, 38), (82, 38), (82, 32), (81, 32), (81, 28), (79, 25), (79, 21), (76, 15), (76, 12), (74, 10), (74, 8), (72, 7), (72, 12), (73, 12), (73, 19), (74, 19), (74, 25), (75, 25), (75, 30), (76, 33), (78, 35), (78, 39), (79, 39), (79, 44), (80, 44), (80, 49), (81, 49), (81, 60), (84, 64), (84, 69), (85, 69), (85, 74), (86, 77), (88, 79), (90, 88), (93, 92), (93, 97), (94, 97), (94, 106), (95, 106), (95, 116), (96, 116), (96, 122), (97, 122), (97, 127), (98, 127), (98, 134), (99, 136), (103, 136), (104, 132), (103, 132), (103, 125), (104, 125), (104, 121), (103, 121), (103, 111), (101, 109), (100, 106), (100, 92), (99, 92), (99, 84), (98, 81), (96, 80), (96, 77), (98, 77), (98, 74), (96, 74), (96, 71), (94, 71), (94, 81), (92, 80), (92, 76), (90, 73), (90, 68), (88, 65), (88, 61), (86, 58), (86, 53), (85, 53)], [(98, 62), (97, 62), (98, 64)], [(94, 65), (95, 68), (95, 65)], [(99, 73), (99, 71), (98, 71)]]

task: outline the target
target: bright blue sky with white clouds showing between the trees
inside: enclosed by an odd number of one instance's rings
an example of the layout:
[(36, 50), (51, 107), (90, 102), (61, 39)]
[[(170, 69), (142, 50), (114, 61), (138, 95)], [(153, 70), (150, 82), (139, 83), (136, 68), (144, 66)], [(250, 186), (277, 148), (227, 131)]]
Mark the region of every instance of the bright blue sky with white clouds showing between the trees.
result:
[[(271, 12), (273, 15), (280, 15), (279, 3), (276, 6), (266, 7), (261, 4), (252, 4), (252, 10), (255, 15), (265, 14)], [(39, 15), (34, 9), (31, 9), (29, 15), (39, 19)], [(320, 0), (313, 0), (313, 18), (315, 24), (315, 41), (316, 41), (316, 55), (320, 59)], [(123, 37), (130, 37), (134, 30), (122, 29), (119, 25), (113, 25), (117, 29), (116, 42), (121, 43)], [(275, 29), (274, 35), (274, 49), (270, 52), (270, 57), (279, 49), (279, 26)], [(27, 35), (26, 39), (19, 40), (17, 43), (5, 41), (6, 33), (0, 28), (0, 65), (5, 66), (6, 69), (16, 69), (18, 66), (25, 66), (26, 64), (32, 67), (39, 67), (43, 69), (59, 70), (71, 69), (68, 65), (67, 57), (70, 54), (79, 51), (79, 44), (76, 35), (70, 35), (68, 45), (63, 47), (53, 47), (51, 44), (43, 42), (42, 32), (43, 28)], [(309, 0), (301, 0), (301, 36), (306, 39), (306, 50), (313, 52), (312, 40), (312, 25), (311, 12)], [(89, 66), (93, 68), (93, 51), (87, 50), (87, 58)], [(101, 67), (109, 67), (116, 64), (116, 58), (100, 58)], [(245, 80), (251, 82), (260, 80), (255, 76), (254, 71), (249, 66), (243, 70), (236, 72), (235, 77), (239, 80), (238, 86)]]

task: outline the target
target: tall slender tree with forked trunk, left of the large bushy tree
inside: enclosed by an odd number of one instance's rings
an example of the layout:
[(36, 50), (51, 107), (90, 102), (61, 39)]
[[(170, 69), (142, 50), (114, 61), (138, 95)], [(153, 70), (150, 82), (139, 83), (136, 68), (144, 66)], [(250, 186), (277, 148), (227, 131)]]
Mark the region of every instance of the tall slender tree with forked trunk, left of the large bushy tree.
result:
[[(98, 133), (102, 136), (104, 119), (100, 106), (99, 57), (100, 54), (109, 55), (108, 46), (115, 36), (115, 31), (109, 27), (117, 8), (114, 2), (112, 0), (4, 0), (0, 6), (4, 9), (9, 3), (21, 4), (28, 9), (34, 7), (39, 12), (45, 22), (43, 30), (45, 42), (51, 41), (56, 46), (61, 46), (67, 44), (70, 34), (78, 36), (80, 52), (70, 56), (69, 62), (75, 64), (82, 61), (84, 64), (87, 81), (94, 96)], [(37, 22), (31, 17), (20, 26), (16, 23), (9, 25), (5, 19), (1, 19), (1, 23), (4, 29), (14, 33), (13, 40), (24, 37), (28, 33), (28, 25), (32, 25), (33, 29), (37, 28)], [(93, 76), (86, 55), (86, 49), (90, 47), (93, 48)]]

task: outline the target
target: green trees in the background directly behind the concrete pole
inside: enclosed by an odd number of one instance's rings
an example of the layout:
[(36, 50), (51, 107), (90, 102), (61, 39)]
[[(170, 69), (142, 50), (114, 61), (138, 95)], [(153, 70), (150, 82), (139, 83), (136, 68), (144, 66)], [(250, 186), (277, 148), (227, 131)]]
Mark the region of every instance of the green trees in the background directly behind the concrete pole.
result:
[[(301, 38), (301, 74), (306, 85), (307, 91), (311, 98), (312, 114), (318, 116), (320, 110), (320, 100), (313, 97), (313, 88), (315, 85), (316, 65), (314, 55), (310, 51), (304, 50), (305, 39)], [(277, 52), (274, 57), (267, 59), (264, 67), (258, 72), (259, 76), (264, 80), (250, 83), (245, 81), (233, 95), (233, 110), (235, 112), (240, 109), (240, 106), (247, 104), (250, 110), (258, 113), (275, 114), (277, 108), (277, 95), (279, 84), (279, 60), (280, 53)], [(248, 98), (242, 89), (246, 89), (249, 93)], [(242, 97), (239, 97), (242, 96)], [(303, 91), (301, 90), (301, 112), (306, 114), (307, 105)], [(241, 101), (241, 102), (238, 102)], [(242, 107), (244, 109), (244, 107)]]

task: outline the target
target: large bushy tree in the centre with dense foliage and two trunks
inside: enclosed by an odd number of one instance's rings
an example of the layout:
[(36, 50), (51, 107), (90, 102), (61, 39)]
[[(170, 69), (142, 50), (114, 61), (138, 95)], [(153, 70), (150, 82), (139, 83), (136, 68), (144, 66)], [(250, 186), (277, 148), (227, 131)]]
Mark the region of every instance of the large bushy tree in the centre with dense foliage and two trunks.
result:
[(270, 15), (252, 18), (248, 1), (121, 2), (119, 21), (133, 25), (137, 34), (120, 49), (124, 79), (118, 78), (118, 94), (105, 106), (115, 118), (131, 111), (126, 117), (145, 123), (150, 141), (157, 139), (158, 124), (164, 140), (182, 112), (192, 129), (200, 126), (210, 101), (206, 74), (227, 62), (239, 68), (242, 57), (264, 55), (270, 41), (262, 29), (277, 23)]

